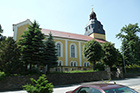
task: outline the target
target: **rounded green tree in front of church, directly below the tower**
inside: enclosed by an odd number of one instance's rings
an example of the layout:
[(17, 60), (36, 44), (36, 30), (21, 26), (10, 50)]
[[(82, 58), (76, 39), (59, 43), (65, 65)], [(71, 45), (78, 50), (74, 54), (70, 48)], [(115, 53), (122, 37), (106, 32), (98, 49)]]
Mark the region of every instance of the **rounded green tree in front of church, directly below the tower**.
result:
[(93, 69), (95, 70), (95, 64), (97, 61), (100, 61), (104, 52), (100, 43), (93, 39), (85, 44), (84, 55), (93, 64)]

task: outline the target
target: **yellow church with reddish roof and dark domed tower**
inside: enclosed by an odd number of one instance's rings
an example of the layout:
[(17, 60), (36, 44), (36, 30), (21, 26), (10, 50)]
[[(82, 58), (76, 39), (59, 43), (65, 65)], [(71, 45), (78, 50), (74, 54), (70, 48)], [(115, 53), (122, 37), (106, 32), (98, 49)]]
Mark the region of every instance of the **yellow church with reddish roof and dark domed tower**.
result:
[[(13, 38), (15, 41), (22, 39), (21, 35), (28, 30), (31, 23), (27, 19), (13, 24)], [(91, 70), (92, 64), (87, 61), (83, 54), (84, 44), (92, 39), (99, 43), (106, 42), (103, 25), (97, 20), (96, 13), (93, 10), (89, 16), (89, 23), (85, 27), (84, 35), (44, 28), (41, 29), (41, 32), (46, 38), (51, 32), (57, 48), (58, 67), (52, 68), (51, 71)]]

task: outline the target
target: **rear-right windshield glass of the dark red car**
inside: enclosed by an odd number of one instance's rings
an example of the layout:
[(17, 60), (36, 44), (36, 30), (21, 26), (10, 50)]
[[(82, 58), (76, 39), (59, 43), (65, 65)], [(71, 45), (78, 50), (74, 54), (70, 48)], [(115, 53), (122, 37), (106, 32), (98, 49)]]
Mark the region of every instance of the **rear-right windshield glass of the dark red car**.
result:
[(104, 90), (104, 91), (105, 91), (105, 93), (138, 93), (135, 90), (128, 88), (128, 87), (108, 89), (108, 90)]

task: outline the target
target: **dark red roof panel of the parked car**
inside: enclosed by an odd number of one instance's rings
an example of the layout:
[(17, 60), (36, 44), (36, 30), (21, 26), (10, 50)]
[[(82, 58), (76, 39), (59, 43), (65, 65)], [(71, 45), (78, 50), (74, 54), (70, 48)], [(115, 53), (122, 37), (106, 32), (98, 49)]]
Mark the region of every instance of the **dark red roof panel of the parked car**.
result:
[(93, 87), (97, 89), (107, 90), (107, 89), (121, 88), (126, 86), (119, 85), (119, 84), (112, 84), (112, 83), (97, 83), (97, 84), (95, 83), (95, 84), (83, 85), (82, 87)]

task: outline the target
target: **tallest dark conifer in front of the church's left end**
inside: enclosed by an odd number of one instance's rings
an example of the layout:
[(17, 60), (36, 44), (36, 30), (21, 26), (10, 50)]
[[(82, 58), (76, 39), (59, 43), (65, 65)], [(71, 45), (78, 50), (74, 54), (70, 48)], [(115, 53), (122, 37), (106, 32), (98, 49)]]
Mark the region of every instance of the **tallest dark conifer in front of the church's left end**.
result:
[(22, 39), (18, 44), (21, 49), (21, 60), (26, 65), (40, 65), (43, 62), (43, 39), (44, 35), (41, 33), (41, 28), (36, 21), (28, 27), (28, 31), (25, 31), (22, 35)]

